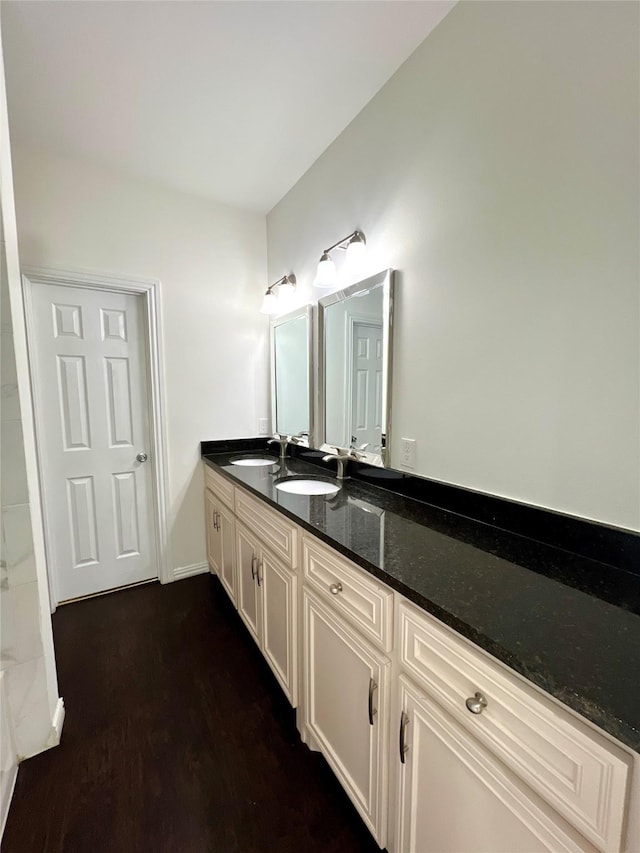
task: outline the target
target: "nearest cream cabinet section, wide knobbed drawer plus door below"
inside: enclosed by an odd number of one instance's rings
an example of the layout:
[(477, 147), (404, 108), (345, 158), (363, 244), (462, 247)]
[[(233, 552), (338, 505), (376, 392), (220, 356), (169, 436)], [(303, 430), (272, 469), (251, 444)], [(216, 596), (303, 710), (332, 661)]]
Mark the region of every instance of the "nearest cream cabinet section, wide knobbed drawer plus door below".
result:
[(397, 853), (618, 853), (630, 756), (409, 602), (397, 624)]

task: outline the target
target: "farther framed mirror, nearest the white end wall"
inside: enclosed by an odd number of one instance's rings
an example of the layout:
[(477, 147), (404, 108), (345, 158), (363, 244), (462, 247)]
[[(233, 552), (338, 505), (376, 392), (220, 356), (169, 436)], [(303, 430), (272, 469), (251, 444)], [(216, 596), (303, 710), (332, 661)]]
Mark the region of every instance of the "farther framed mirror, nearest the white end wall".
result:
[(274, 432), (298, 436), (312, 446), (313, 436), (313, 308), (271, 320), (271, 425)]

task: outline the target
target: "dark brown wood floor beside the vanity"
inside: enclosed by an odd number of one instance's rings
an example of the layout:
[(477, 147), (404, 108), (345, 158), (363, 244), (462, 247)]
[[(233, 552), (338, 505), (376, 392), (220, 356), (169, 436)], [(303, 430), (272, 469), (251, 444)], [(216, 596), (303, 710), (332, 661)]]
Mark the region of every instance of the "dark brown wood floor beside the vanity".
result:
[(20, 767), (3, 853), (374, 853), (217, 580), (61, 607), (62, 743)]

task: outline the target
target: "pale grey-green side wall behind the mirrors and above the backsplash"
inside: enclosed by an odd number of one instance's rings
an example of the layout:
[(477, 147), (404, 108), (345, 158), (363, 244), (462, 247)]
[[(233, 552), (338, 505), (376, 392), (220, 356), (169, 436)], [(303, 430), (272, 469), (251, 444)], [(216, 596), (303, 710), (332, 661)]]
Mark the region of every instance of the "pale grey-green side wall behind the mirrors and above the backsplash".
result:
[(391, 464), (640, 527), (639, 8), (460, 3), (267, 220), (397, 277)]

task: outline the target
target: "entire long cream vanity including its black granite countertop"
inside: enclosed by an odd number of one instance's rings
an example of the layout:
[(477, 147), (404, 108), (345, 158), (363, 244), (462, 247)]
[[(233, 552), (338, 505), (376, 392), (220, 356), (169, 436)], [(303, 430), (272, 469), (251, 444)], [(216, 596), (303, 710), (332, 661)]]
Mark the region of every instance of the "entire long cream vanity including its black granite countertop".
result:
[(209, 565), (378, 844), (635, 853), (640, 578), (243, 447), (202, 447)]

